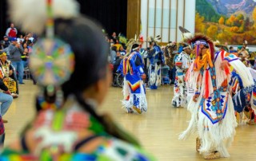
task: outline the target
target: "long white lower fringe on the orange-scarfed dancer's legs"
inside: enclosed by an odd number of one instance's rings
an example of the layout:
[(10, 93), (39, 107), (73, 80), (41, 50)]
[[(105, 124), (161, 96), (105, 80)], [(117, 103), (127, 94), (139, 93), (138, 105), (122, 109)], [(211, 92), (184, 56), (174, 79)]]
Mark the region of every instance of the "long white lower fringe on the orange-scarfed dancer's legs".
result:
[[(209, 131), (205, 129), (206, 126)], [(221, 157), (229, 157), (227, 147), (230, 147), (231, 142), (234, 140), (237, 126), (234, 105), (230, 95), (228, 95), (226, 116), (218, 124), (212, 124), (202, 112), (198, 112), (198, 132), (202, 141), (202, 147), (199, 149), (200, 153), (205, 155), (210, 151), (218, 151)]]

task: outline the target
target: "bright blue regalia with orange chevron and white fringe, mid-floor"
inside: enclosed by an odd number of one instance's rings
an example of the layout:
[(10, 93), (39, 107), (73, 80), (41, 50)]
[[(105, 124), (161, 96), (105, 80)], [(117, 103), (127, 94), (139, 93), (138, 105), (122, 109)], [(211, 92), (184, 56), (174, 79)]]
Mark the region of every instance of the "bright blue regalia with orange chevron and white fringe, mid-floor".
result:
[(146, 91), (142, 81), (142, 56), (137, 51), (128, 54), (119, 66), (124, 76), (122, 105), (127, 112), (146, 112)]

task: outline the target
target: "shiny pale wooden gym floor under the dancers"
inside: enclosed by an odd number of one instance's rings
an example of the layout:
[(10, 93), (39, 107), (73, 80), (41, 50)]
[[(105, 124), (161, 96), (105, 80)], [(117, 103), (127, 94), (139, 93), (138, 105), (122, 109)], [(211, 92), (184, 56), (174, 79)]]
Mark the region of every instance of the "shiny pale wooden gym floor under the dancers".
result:
[[(20, 95), (15, 99), (4, 119), (6, 144), (18, 137), (18, 133), (34, 116), (34, 96), (38, 87), (32, 81), (19, 85)], [(110, 88), (100, 112), (108, 112), (123, 128), (134, 134), (147, 151), (158, 160), (194, 161), (204, 160), (195, 151), (195, 136), (186, 141), (178, 140), (178, 133), (187, 127), (190, 112), (186, 108), (173, 108), (170, 104), (173, 87), (162, 86), (158, 90), (146, 90), (148, 112), (142, 115), (127, 114), (121, 108), (122, 88)], [(256, 160), (256, 126), (244, 125), (237, 128), (234, 143), (230, 147), (230, 158), (221, 160)]]

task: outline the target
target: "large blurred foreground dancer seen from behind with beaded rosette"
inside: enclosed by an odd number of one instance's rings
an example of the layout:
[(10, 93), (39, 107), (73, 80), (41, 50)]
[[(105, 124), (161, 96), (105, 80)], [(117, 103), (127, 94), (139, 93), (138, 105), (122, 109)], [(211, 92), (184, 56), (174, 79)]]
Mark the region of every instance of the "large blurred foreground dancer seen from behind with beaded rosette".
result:
[(96, 112), (111, 82), (102, 28), (78, 14), (73, 0), (11, 0), (10, 6), (14, 22), (26, 18), (23, 29), (45, 32), (46, 38), (30, 55), (42, 87), (37, 116), (0, 159), (154, 160), (109, 116)]

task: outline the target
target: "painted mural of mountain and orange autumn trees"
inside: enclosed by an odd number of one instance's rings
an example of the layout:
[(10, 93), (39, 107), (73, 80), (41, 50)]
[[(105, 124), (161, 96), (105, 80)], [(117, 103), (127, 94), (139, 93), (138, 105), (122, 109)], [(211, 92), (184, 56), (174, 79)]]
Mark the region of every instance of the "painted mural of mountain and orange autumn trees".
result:
[(214, 41), (256, 45), (256, 0), (196, 0), (195, 32)]

